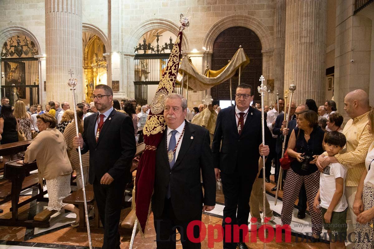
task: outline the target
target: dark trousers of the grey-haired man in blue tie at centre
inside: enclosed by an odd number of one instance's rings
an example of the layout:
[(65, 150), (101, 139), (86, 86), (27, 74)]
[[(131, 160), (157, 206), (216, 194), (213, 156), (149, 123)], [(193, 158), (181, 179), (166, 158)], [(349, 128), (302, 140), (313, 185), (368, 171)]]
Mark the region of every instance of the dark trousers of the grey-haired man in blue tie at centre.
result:
[[(154, 228), (156, 230), (157, 249), (175, 249), (176, 230), (180, 233), (180, 242), (183, 249), (200, 249), (201, 243), (193, 243), (188, 240), (187, 226), (191, 221), (201, 221), (202, 211), (196, 214), (191, 220), (181, 221), (175, 217), (171, 199), (165, 199), (164, 209), (159, 217), (154, 217)], [(194, 238), (198, 238), (200, 228), (196, 225), (193, 228)], [(191, 236), (191, 235), (190, 235)]]

